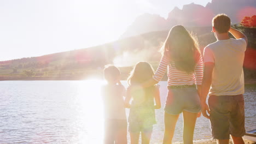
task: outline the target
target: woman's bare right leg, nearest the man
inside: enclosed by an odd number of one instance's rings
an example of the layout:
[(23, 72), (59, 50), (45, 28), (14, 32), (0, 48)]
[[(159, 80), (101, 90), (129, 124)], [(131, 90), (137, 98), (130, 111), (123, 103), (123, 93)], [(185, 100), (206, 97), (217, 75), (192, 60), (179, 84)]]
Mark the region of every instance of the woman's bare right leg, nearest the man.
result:
[(184, 144), (193, 143), (197, 113), (183, 111), (183, 142)]

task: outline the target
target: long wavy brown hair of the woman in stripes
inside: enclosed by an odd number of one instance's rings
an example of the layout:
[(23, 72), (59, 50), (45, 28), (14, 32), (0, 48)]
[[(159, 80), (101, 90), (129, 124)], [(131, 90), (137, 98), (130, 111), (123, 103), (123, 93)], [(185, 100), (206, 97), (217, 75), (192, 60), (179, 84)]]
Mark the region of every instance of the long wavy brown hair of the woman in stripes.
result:
[(197, 58), (200, 56), (196, 37), (181, 25), (171, 28), (160, 52), (171, 61), (172, 66), (187, 73), (195, 71)]

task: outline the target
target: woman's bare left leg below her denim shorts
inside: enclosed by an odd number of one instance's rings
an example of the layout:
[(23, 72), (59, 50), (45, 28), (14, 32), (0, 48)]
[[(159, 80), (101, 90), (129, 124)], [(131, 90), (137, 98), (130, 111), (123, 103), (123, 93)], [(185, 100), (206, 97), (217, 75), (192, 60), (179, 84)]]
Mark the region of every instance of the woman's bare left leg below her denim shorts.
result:
[(178, 118), (179, 115), (171, 115), (165, 112), (165, 134), (164, 139), (162, 140), (163, 144), (172, 143), (172, 137)]

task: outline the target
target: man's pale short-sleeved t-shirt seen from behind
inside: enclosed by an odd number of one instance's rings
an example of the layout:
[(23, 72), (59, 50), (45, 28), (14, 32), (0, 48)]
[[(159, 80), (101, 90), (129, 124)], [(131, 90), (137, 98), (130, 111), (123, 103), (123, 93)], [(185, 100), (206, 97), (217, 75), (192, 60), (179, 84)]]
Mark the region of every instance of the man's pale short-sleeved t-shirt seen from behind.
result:
[(238, 95), (245, 93), (243, 78), (245, 50), (245, 39), (218, 40), (205, 47), (204, 63), (214, 63), (209, 95)]

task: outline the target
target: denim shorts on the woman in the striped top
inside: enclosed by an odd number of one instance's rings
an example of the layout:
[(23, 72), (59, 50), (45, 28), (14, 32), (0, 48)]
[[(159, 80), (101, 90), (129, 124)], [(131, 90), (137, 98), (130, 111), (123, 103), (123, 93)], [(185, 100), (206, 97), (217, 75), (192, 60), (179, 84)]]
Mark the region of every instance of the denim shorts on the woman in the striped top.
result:
[(195, 87), (168, 88), (165, 112), (178, 115), (182, 111), (201, 112), (200, 98)]

